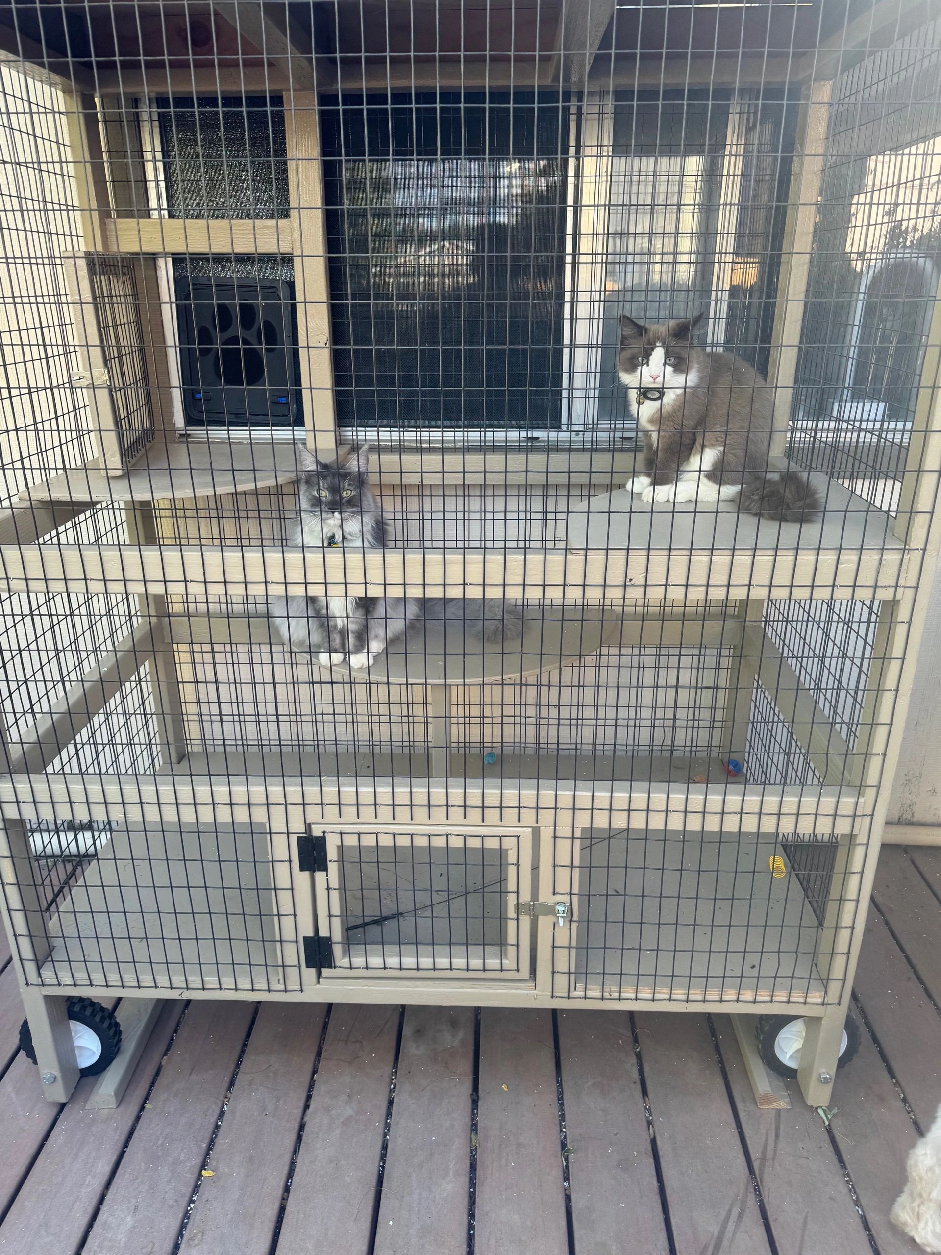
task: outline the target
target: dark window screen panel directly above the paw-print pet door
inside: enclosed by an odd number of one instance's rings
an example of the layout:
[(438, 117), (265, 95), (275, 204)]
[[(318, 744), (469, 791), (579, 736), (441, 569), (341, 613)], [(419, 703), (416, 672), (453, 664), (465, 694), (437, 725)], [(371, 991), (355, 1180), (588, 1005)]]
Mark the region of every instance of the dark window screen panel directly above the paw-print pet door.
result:
[(172, 218), (286, 218), (280, 97), (162, 97), (156, 102)]

